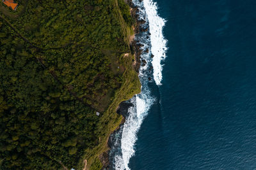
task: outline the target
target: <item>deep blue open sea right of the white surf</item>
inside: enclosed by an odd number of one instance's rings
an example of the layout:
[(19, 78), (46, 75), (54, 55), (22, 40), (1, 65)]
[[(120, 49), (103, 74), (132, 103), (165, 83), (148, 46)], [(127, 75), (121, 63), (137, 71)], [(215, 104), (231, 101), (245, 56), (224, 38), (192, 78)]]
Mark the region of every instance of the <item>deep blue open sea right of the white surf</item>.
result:
[(136, 169), (256, 169), (256, 1), (157, 0), (168, 57)]

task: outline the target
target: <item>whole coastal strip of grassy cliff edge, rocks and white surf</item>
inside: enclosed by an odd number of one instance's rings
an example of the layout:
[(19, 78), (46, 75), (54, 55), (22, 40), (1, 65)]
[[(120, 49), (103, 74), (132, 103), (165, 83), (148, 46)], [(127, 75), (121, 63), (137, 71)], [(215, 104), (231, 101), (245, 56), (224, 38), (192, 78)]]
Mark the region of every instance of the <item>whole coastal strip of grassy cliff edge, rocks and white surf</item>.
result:
[[(156, 101), (150, 84), (161, 85), (161, 61), (166, 57), (167, 40), (163, 36), (166, 21), (159, 17), (157, 4), (153, 0), (126, 0), (125, 3), (129, 5), (134, 21), (126, 37), (130, 50), (123, 57), (129, 73), (124, 75), (127, 80), (115, 95), (115, 106), (112, 104), (111, 111), (108, 110), (117, 119), (111, 120), (112, 129), (109, 129), (106, 143), (98, 152), (99, 169), (130, 169), (130, 159), (136, 152), (137, 133)], [(129, 74), (132, 74), (132, 79)], [(138, 83), (132, 83), (134, 80)], [(138, 84), (140, 87), (132, 86)]]

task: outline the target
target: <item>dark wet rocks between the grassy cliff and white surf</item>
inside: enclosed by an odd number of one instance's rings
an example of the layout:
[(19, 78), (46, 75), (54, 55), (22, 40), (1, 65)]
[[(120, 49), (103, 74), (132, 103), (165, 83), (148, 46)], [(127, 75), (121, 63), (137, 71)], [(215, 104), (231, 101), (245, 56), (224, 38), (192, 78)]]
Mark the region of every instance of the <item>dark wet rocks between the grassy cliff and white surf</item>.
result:
[[(140, 0), (140, 1), (142, 1), (142, 0)], [(138, 7), (134, 5), (132, 0), (125, 0), (125, 2), (127, 4), (129, 4), (129, 6), (131, 8), (132, 18), (134, 18), (134, 21), (135, 21), (134, 36), (135, 37), (138, 36), (138, 34), (140, 34), (141, 32), (148, 32), (148, 25), (147, 25), (147, 27), (141, 26), (142, 24), (145, 24), (146, 20), (139, 18), (140, 15), (138, 13), (140, 12), (140, 10), (138, 9)], [(150, 33), (148, 32), (147, 39), (149, 39), (149, 36), (150, 36)], [(143, 50), (143, 49), (141, 49), (142, 46), (144, 46), (144, 45), (142, 43), (140, 43), (139, 40), (132, 39), (132, 41), (130, 42), (130, 48), (131, 48), (132, 55), (135, 56), (133, 66), (137, 73), (139, 73), (141, 66), (145, 66), (147, 64), (145, 59), (141, 59), (141, 54), (148, 53), (148, 48)], [(154, 56), (152, 55), (151, 57), (154, 57)], [(151, 78), (149, 77), (148, 80), (151, 80)], [(120, 105), (118, 106), (118, 108), (116, 110), (116, 113), (122, 115), (123, 119), (122, 119), (122, 122), (120, 122), (120, 125), (115, 129), (115, 131), (113, 131), (110, 134), (110, 136), (108, 138), (108, 147), (109, 147), (108, 152), (104, 152), (104, 153), (102, 153), (102, 155), (100, 155), (100, 161), (103, 164), (102, 170), (103, 169), (104, 170), (114, 169), (113, 166), (115, 166), (115, 162), (114, 162), (115, 158), (111, 157), (111, 156), (113, 156), (113, 154), (115, 152), (118, 152), (118, 150), (120, 152), (120, 147), (116, 147), (116, 146), (117, 145), (120, 146), (121, 139), (122, 139), (122, 129), (123, 129), (123, 126), (125, 123), (125, 118), (128, 117), (128, 114), (129, 114), (128, 110), (132, 106), (133, 106), (133, 104), (131, 102), (123, 101), (122, 103), (120, 103)]]

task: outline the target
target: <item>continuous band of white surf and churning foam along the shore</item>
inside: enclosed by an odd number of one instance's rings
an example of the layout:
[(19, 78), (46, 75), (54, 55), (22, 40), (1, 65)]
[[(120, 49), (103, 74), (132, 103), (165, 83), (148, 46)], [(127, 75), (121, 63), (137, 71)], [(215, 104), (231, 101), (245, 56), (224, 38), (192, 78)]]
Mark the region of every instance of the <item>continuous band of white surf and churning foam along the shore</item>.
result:
[[(131, 103), (131, 107), (125, 115), (125, 123), (120, 126), (119, 131), (111, 134), (112, 146), (109, 152), (109, 161), (111, 162), (109, 169), (130, 169), (129, 160), (135, 153), (134, 144), (137, 140), (137, 133), (143, 119), (148, 114), (148, 110), (155, 101), (148, 87), (148, 77), (153, 76), (156, 85), (161, 85), (161, 60), (166, 57), (166, 40), (162, 33), (165, 21), (157, 15), (156, 3), (153, 3), (152, 0), (133, 0), (133, 3), (139, 10), (138, 20), (145, 20), (145, 23), (141, 24), (140, 27), (143, 30), (149, 27), (149, 32), (141, 31), (136, 34), (135, 38), (142, 45), (141, 60), (145, 60), (147, 64), (144, 62), (140, 67), (141, 93), (127, 101), (127, 103)], [(153, 59), (152, 55), (154, 55)], [(154, 73), (150, 71), (152, 66)]]

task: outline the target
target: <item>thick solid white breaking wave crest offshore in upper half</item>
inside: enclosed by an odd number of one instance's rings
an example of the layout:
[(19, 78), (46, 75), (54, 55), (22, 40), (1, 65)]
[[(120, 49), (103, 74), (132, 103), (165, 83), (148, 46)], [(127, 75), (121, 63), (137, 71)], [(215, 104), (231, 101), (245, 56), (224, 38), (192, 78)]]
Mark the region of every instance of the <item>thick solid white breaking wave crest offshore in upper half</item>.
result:
[(157, 85), (161, 85), (162, 65), (161, 60), (166, 57), (167, 40), (163, 36), (165, 20), (157, 15), (157, 3), (152, 0), (144, 0), (144, 7), (147, 13), (150, 31), (151, 52), (154, 55), (152, 66), (154, 67), (154, 80)]

